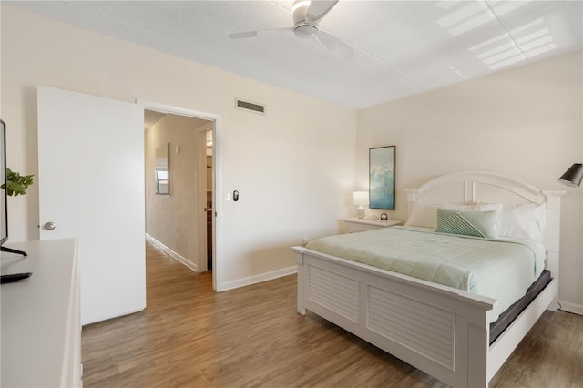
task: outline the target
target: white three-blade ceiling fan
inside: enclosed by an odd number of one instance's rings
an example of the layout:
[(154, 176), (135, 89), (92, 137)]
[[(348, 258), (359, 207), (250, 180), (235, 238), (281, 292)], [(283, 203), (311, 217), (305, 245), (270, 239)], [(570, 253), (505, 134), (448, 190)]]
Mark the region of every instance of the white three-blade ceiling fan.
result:
[(229, 34), (230, 39), (245, 39), (274, 33), (290, 33), (302, 39), (314, 39), (333, 56), (342, 59), (353, 57), (353, 49), (336, 36), (318, 27), (318, 22), (338, 3), (338, 0), (295, 0), (292, 5), (293, 26), (268, 28)]

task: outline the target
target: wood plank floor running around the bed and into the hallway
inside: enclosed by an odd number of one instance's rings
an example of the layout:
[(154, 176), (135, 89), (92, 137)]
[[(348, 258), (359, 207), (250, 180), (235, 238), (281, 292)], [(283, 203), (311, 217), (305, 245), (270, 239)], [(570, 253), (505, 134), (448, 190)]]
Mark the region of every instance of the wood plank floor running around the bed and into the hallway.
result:
[[(295, 276), (216, 293), (148, 244), (147, 283), (145, 311), (83, 328), (86, 388), (445, 386), (298, 314)], [(490, 386), (583, 386), (583, 316), (545, 312)]]

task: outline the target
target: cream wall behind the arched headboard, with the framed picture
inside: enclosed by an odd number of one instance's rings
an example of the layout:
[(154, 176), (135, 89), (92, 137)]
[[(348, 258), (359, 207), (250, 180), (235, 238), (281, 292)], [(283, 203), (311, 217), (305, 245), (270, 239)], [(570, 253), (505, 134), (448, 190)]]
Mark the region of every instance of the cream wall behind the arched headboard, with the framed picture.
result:
[(459, 170), (489, 170), (562, 200), (559, 298), (583, 313), (581, 189), (557, 178), (583, 160), (581, 52), (404, 98), (357, 113), (356, 188), (368, 188), (368, 148), (396, 146), (396, 209), (403, 189)]

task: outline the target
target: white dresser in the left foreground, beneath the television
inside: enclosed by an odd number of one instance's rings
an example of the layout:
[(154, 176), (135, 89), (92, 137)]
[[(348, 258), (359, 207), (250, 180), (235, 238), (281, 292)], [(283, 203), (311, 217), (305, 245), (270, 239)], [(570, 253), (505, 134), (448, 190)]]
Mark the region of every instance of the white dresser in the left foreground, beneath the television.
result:
[(77, 240), (5, 244), (2, 274), (33, 272), (0, 286), (3, 387), (82, 385)]

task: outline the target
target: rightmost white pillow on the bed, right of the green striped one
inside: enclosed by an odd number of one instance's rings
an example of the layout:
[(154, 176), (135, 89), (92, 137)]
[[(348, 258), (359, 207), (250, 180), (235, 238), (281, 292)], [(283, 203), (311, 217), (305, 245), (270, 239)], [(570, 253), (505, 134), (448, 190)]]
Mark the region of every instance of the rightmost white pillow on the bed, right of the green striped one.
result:
[(498, 214), (498, 236), (543, 242), (547, 227), (546, 205), (502, 205)]

